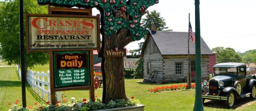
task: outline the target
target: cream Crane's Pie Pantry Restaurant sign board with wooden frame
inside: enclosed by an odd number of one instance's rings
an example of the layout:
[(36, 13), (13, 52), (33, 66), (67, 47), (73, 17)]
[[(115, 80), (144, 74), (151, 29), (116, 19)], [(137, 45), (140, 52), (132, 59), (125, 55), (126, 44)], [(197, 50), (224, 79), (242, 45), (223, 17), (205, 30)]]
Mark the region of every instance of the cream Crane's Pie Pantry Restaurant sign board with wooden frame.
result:
[(27, 51), (99, 49), (99, 15), (27, 14)]

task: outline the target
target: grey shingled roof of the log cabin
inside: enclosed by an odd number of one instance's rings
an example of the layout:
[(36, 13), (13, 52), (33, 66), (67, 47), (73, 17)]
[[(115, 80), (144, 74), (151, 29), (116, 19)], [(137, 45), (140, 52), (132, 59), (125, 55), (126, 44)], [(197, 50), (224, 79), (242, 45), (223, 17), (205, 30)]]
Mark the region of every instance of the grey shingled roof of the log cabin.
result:
[[(157, 31), (150, 34), (161, 55), (188, 55), (188, 32)], [(195, 43), (189, 41), (189, 47), (190, 55), (195, 55)], [(201, 55), (213, 55), (203, 38), (201, 38)]]

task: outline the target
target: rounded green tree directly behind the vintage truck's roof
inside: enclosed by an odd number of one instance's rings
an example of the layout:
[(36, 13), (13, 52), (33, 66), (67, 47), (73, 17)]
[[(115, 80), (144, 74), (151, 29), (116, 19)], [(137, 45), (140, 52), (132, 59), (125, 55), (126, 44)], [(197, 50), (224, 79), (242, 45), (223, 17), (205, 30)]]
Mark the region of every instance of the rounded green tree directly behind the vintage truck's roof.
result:
[(212, 49), (212, 52), (216, 52), (216, 58), (218, 63), (228, 63), (228, 62), (241, 62), (242, 57), (235, 52), (235, 49), (224, 48), (224, 47), (215, 47)]

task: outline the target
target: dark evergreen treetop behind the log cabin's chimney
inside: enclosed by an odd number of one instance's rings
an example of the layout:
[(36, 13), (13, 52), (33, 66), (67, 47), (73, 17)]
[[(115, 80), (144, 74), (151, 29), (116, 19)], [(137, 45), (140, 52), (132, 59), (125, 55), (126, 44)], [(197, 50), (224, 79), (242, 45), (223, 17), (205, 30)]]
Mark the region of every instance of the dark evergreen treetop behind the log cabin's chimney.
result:
[(142, 19), (142, 27), (144, 27), (147, 30), (151, 30), (151, 25), (156, 24), (157, 30), (167, 30), (168, 27), (166, 27), (165, 19), (160, 16), (160, 12), (157, 12), (156, 10), (153, 10), (152, 12), (148, 12), (146, 14), (146, 19)]

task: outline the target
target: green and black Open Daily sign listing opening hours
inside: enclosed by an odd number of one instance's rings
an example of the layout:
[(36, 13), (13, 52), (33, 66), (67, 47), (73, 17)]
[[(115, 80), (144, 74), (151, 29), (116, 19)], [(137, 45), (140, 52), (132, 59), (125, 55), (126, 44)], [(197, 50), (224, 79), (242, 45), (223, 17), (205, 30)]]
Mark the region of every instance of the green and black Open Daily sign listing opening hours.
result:
[(90, 86), (89, 51), (53, 52), (54, 88)]

